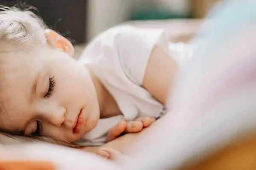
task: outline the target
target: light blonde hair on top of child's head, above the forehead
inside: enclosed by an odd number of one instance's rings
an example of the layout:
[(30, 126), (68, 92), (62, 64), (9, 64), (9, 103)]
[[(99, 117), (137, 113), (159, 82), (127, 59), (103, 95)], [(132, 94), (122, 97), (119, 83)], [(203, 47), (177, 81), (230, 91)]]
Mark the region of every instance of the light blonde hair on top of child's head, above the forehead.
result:
[(2, 7), (0, 11), (0, 54), (27, 51), (46, 45), (43, 20), (31, 11)]

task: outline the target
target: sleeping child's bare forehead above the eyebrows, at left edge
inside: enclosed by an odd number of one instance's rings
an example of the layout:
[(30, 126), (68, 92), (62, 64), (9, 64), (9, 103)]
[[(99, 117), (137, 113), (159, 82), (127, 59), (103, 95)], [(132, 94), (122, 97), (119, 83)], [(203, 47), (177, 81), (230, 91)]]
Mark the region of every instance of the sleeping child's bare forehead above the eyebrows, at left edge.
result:
[(29, 118), (29, 96), (43, 62), (30, 54), (17, 54), (4, 62), (0, 91), (0, 129), (20, 129)]

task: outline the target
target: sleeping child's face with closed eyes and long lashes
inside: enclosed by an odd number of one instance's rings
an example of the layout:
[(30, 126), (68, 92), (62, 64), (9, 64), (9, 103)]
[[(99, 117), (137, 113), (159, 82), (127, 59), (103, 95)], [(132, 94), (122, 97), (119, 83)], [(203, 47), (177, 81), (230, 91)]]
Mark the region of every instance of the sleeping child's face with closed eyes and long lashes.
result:
[[(75, 59), (58, 50), (38, 49), (15, 54), (6, 65), (0, 129), (31, 135), (38, 132), (39, 123), (41, 135), (76, 142), (97, 125), (96, 90), (86, 68)], [(49, 85), (52, 80), (54, 87)], [(74, 133), (80, 111), (84, 121), (80, 121), (81, 131)]]

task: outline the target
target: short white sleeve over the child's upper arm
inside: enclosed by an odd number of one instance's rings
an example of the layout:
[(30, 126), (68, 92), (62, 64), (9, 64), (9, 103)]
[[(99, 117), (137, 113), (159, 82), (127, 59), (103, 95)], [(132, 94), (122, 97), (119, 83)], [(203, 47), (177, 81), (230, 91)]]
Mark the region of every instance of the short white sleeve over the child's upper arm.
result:
[(142, 85), (152, 49), (157, 45), (168, 52), (169, 41), (163, 29), (121, 26), (115, 43), (126, 76), (137, 85)]

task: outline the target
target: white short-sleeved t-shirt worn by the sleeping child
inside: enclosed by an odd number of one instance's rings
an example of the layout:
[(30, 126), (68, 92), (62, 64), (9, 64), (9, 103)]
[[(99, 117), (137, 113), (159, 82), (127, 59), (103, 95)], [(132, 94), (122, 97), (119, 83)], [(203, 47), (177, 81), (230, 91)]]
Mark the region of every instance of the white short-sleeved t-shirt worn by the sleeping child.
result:
[(180, 65), (191, 56), (191, 47), (171, 44), (162, 29), (117, 26), (99, 34), (79, 58), (99, 78), (113, 96), (123, 115), (100, 119), (98, 125), (77, 143), (102, 145), (108, 131), (120, 120), (140, 116), (157, 117), (164, 106), (142, 87), (152, 49), (158, 45)]

